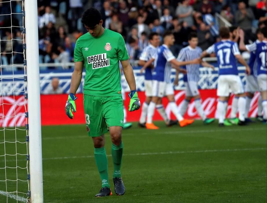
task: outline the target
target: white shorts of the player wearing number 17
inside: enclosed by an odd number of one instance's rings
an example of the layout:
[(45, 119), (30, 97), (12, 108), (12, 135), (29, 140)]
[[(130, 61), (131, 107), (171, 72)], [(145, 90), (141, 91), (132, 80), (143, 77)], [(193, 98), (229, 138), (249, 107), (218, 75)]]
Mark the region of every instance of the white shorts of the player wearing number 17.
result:
[(228, 97), (230, 93), (244, 93), (243, 83), (238, 75), (219, 75), (217, 96)]

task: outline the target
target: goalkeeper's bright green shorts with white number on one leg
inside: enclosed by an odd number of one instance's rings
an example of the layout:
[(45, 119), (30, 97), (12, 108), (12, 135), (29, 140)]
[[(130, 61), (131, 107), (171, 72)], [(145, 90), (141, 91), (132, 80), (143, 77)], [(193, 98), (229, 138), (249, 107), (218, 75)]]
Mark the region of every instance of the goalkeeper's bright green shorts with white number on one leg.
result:
[(123, 127), (123, 100), (121, 96), (97, 97), (83, 95), (86, 130), (91, 137), (108, 132), (110, 126)]

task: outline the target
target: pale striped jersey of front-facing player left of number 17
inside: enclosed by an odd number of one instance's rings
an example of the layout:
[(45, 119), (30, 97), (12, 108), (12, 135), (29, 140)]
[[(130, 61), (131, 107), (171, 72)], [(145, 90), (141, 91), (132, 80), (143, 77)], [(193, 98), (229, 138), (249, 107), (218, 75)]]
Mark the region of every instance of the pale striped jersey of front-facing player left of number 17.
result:
[[(196, 47), (193, 49), (190, 46), (182, 48), (178, 57), (177, 61), (191, 61), (200, 57), (202, 53), (202, 49), (200, 47)], [(188, 81), (199, 81), (199, 64), (188, 64), (186, 65), (187, 71), (187, 79)]]

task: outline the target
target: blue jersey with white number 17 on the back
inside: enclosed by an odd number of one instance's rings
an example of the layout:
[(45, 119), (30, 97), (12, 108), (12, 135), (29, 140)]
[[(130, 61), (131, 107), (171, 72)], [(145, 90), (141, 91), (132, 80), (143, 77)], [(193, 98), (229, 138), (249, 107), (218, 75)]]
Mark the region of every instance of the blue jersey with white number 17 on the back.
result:
[(212, 52), (217, 56), (219, 75), (238, 75), (235, 55), (240, 55), (240, 52), (236, 42), (221, 40), (207, 49), (208, 54)]

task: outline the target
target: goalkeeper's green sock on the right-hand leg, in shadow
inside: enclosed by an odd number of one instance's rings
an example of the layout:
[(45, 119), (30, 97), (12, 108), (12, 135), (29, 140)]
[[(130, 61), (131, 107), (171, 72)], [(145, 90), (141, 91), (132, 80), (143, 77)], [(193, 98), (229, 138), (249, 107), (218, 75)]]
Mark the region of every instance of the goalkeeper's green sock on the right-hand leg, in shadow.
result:
[(112, 159), (113, 159), (113, 164), (114, 164), (113, 178), (121, 177), (122, 151), (123, 151), (122, 142), (119, 146), (112, 143), (111, 154), (112, 154)]

